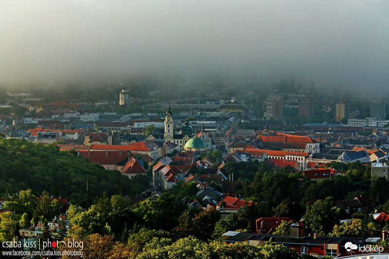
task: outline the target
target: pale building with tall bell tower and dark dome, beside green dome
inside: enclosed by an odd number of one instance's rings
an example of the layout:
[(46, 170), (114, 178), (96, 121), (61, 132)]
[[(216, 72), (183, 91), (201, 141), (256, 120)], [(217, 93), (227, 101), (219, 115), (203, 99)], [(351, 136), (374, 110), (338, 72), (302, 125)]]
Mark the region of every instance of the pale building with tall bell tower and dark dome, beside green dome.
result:
[(175, 134), (174, 132), (174, 121), (173, 113), (170, 110), (170, 104), (167, 106), (167, 111), (165, 113), (165, 132), (164, 139), (165, 142), (174, 143), (178, 145), (178, 150), (183, 150), (186, 142), (194, 136), (194, 131), (189, 125), (188, 119), (185, 121), (184, 125), (181, 128), (180, 134)]

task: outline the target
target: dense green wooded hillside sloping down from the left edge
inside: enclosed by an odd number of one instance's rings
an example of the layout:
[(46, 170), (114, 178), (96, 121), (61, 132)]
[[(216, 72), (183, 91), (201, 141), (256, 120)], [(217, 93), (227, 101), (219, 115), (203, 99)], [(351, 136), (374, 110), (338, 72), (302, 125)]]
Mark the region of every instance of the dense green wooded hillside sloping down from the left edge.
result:
[(125, 196), (148, 187), (147, 179), (141, 179), (144, 186), (136, 182), (119, 171), (89, 163), (75, 153), (59, 151), (55, 144), (43, 146), (24, 140), (0, 139), (1, 194), (31, 189), (39, 195), (46, 190), (50, 195), (69, 197), (73, 203), (83, 205), (87, 197), (93, 199), (103, 192)]

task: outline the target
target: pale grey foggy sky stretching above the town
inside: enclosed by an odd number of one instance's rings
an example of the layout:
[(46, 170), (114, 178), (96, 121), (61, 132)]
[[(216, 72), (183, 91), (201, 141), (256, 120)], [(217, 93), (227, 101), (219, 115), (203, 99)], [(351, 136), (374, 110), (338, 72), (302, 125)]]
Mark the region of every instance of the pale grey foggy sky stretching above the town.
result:
[(389, 86), (388, 0), (0, 0), (0, 83), (140, 72)]

